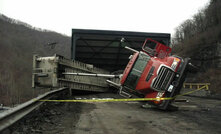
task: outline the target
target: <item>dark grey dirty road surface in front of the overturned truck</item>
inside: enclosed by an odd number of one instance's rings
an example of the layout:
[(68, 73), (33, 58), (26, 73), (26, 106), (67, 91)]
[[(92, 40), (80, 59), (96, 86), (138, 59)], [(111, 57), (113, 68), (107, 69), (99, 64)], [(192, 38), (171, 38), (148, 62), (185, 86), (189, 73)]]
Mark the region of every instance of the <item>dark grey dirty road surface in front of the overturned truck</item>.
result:
[[(90, 94), (75, 98), (121, 98)], [(45, 134), (220, 134), (221, 101), (184, 97), (178, 111), (141, 108), (139, 102), (49, 103), (5, 133)], [(70, 99), (70, 98), (69, 98)], [(72, 98), (73, 99), (73, 98)]]

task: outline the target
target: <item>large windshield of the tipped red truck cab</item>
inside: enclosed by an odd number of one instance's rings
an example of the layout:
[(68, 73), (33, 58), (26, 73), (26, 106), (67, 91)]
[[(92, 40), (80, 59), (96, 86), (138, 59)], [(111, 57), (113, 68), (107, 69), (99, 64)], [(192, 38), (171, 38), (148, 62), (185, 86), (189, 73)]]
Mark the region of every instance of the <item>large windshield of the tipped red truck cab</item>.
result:
[(150, 60), (150, 56), (148, 56), (147, 54), (142, 53), (142, 52), (139, 54), (130, 73), (127, 76), (124, 86), (130, 89), (136, 88), (137, 82), (139, 81), (140, 76), (143, 73), (143, 70), (146, 67), (149, 60)]

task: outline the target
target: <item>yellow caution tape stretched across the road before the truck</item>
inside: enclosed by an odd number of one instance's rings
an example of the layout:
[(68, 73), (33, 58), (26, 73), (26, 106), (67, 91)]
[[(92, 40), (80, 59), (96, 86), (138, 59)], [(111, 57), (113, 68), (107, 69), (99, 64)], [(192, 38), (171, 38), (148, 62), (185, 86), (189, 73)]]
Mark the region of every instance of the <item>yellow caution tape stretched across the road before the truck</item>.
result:
[(176, 95), (174, 97), (168, 97), (168, 98), (130, 98), (130, 99), (79, 99), (79, 100), (39, 100), (44, 102), (125, 102), (125, 101), (161, 101), (161, 100), (172, 100), (177, 98), (178, 96), (184, 96), (191, 94), (193, 92), (199, 91), (203, 89), (204, 87), (201, 87), (199, 89), (186, 92), (183, 94)]

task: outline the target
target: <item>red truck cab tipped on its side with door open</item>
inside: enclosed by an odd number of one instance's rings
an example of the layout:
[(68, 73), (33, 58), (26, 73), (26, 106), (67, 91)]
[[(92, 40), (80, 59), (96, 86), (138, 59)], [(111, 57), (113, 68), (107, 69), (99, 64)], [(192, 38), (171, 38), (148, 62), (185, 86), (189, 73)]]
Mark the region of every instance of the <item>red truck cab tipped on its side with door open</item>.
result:
[[(171, 48), (146, 39), (142, 51), (135, 52), (121, 78), (123, 90), (145, 98), (173, 97), (180, 92), (187, 73), (189, 58), (170, 56)], [(149, 103), (167, 109), (173, 100)]]

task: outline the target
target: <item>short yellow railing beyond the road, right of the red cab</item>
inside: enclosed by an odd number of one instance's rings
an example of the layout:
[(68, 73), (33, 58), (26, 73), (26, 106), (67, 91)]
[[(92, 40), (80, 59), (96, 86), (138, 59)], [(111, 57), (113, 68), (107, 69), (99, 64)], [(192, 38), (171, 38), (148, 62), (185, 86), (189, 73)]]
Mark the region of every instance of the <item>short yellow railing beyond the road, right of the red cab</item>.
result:
[(183, 88), (209, 90), (210, 83), (183, 83)]

